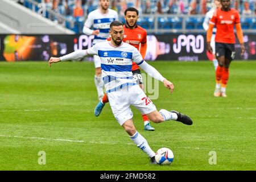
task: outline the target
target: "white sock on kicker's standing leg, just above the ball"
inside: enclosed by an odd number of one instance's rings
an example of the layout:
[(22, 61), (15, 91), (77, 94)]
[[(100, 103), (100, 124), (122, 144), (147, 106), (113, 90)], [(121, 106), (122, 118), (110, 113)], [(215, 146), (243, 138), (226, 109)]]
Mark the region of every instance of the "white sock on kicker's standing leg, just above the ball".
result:
[(155, 152), (152, 151), (150, 146), (147, 143), (147, 140), (142, 137), (141, 134), (136, 131), (136, 133), (133, 136), (130, 136), (130, 138), (133, 140), (133, 142), (137, 145), (137, 147), (141, 148), (143, 152), (145, 152), (150, 158), (155, 156)]

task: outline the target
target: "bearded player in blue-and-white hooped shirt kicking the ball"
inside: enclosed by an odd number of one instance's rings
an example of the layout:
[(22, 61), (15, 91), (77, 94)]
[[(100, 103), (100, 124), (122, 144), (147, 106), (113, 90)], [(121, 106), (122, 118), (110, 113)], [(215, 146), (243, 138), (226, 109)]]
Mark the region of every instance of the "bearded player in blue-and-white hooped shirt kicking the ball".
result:
[(51, 67), (53, 63), (59, 63), (60, 61), (98, 55), (101, 59), (104, 86), (106, 93), (108, 93), (109, 104), (115, 119), (117, 119), (119, 125), (123, 127), (136, 146), (150, 157), (150, 164), (157, 164), (155, 152), (134, 126), (133, 112), (130, 106), (133, 105), (141, 113), (147, 114), (147, 117), (155, 123), (177, 121), (185, 125), (192, 125), (193, 121), (187, 115), (175, 110), (156, 110), (156, 106), (148, 99), (133, 78), (133, 73), (131, 72), (132, 61), (137, 63), (148, 75), (163, 82), (163, 85), (170, 89), (171, 93), (174, 91), (174, 84), (164, 78), (154, 67), (147, 64), (135, 47), (122, 42), (123, 24), (121, 22), (117, 20), (112, 22), (109, 34), (112, 38), (109, 42), (100, 42), (86, 50), (77, 50), (61, 57), (51, 57), (48, 64)]

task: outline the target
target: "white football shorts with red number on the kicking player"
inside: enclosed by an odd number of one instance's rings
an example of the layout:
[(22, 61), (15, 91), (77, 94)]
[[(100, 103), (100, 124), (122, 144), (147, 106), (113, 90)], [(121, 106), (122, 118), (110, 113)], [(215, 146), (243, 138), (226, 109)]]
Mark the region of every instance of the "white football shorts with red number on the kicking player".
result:
[(108, 93), (109, 104), (120, 126), (133, 118), (130, 105), (135, 106), (142, 114), (156, 110), (153, 102), (146, 96), (139, 85), (125, 86), (115, 92)]

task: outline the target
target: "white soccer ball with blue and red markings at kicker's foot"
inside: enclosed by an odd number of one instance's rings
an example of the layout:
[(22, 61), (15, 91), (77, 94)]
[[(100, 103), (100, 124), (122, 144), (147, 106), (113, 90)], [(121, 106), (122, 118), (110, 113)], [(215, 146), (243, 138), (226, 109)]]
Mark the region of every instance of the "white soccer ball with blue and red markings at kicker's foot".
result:
[(160, 165), (170, 165), (174, 160), (174, 153), (170, 150), (170, 148), (160, 148), (155, 153), (156, 163)]

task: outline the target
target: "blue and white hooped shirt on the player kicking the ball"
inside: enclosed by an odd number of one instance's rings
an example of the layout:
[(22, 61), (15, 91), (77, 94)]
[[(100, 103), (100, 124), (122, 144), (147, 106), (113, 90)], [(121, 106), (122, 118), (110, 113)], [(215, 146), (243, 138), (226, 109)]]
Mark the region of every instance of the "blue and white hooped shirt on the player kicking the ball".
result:
[(114, 47), (110, 42), (101, 42), (86, 51), (88, 55), (98, 55), (101, 59), (102, 79), (106, 93), (137, 84), (131, 72), (133, 61), (138, 65), (143, 63), (137, 48), (127, 43)]

